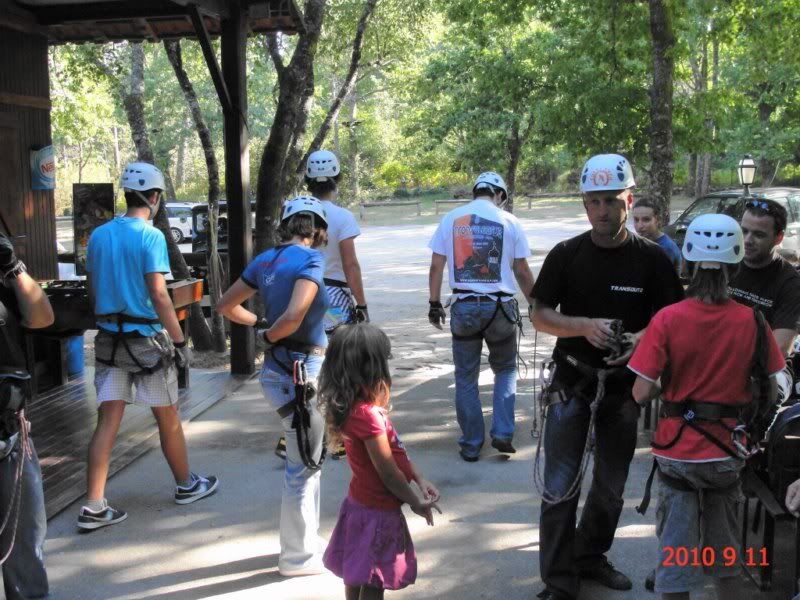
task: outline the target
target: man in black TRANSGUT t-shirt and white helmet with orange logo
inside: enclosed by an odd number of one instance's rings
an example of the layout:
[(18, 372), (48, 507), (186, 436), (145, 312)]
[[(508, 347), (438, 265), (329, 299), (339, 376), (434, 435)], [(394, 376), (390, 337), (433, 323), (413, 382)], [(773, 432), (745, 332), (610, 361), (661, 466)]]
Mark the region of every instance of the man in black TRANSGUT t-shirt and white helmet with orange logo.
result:
[[(553, 248), (533, 287), (533, 325), (558, 336), (544, 430), (547, 497), (539, 535), (541, 577), (547, 586), (539, 597), (547, 600), (577, 598), (580, 577), (612, 589), (632, 586), (605, 557), (636, 447), (639, 409), (631, 396), (633, 373), (624, 367), (652, 315), (683, 297), (661, 248), (625, 227), (633, 186), (630, 164), (622, 156), (589, 159), (581, 192), (592, 229)], [(617, 319), (630, 344), (610, 360)], [(592, 486), (576, 529), (580, 493), (568, 491), (580, 476), (590, 404), (597, 395), (598, 372), (606, 369), (595, 422)]]

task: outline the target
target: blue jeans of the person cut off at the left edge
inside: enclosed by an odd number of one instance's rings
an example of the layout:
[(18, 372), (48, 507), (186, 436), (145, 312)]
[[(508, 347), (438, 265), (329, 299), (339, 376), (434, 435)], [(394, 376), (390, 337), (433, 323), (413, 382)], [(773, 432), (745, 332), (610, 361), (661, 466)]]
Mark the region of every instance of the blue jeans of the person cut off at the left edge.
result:
[[(33, 441), (31, 441), (33, 448)], [(0, 523), (6, 517), (14, 491), (14, 474), (22, 458), (19, 441), (6, 458), (0, 460)], [(3, 586), (7, 600), (49, 598), (47, 572), (44, 570), (44, 538), (47, 519), (44, 512), (44, 491), (39, 458), (33, 449), (33, 459), (25, 460), (22, 479), (22, 501), (14, 549), (3, 564)], [(0, 536), (0, 557), (11, 544), (14, 523), (9, 522)]]

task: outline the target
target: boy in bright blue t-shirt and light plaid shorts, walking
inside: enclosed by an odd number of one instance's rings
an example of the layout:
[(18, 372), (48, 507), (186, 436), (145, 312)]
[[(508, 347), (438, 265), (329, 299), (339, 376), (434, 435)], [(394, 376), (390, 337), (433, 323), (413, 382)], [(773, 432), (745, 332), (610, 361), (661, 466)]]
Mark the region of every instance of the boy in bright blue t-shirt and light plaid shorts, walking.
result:
[(126, 404), (153, 412), (161, 449), (175, 478), (176, 504), (205, 498), (219, 483), (212, 475), (189, 470), (178, 414), (176, 366), (188, 367), (191, 355), (164, 278), (170, 271), (167, 242), (147, 223), (161, 204), (164, 176), (149, 163), (130, 163), (122, 175), (122, 188), (127, 212), (95, 229), (87, 249), (86, 283), (98, 328), (97, 426), (89, 443), (86, 502), (77, 525), (89, 531), (128, 516), (109, 506), (104, 497)]

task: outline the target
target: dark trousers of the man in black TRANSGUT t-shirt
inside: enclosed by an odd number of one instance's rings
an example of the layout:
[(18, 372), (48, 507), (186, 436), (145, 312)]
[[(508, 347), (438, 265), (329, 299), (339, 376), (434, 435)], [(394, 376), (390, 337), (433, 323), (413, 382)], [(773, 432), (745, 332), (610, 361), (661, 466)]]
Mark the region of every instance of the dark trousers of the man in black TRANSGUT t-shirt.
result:
[[(589, 428), (589, 404), (595, 388), (548, 408), (544, 429), (545, 487), (563, 495), (575, 480)], [(579, 495), (567, 502), (542, 501), (539, 566), (547, 589), (577, 598), (578, 571), (605, 560), (614, 541), (622, 494), (636, 449), (639, 407), (629, 388), (612, 389), (601, 401), (595, 423), (594, 471), (580, 524), (575, 528)]]

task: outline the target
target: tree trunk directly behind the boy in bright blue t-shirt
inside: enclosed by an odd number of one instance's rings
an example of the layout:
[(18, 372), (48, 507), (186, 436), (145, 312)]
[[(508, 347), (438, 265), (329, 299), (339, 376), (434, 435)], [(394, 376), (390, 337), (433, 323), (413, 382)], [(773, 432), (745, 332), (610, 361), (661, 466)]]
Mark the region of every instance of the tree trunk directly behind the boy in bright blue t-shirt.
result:
[[(120, 85), (122, 105), (131, 128), (131, 137), (136, 147), (139, 160), (155, 164), (150, 138), (147, 133), (147, 124), (144, 116), (144, 49), (141, 43), (131, 44), (131, 77), (130, 86)], [(172, 276), (175, 279), (188, 279), (189, 268), (183, 260), (178, 245), (170, 235), (169, 217), (162, 202), (153, 219), (155, 225), (167, 240), (167, 252)], [(208, 350), (211, 347), (211, 331), (203, 317), (199, 304), (192, 304), (189, 311), (189, 328), (197, 350)]]

